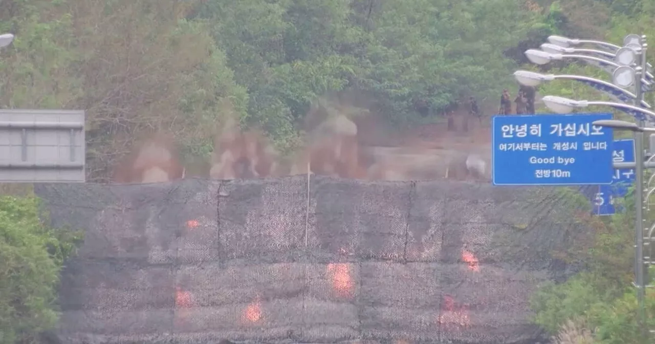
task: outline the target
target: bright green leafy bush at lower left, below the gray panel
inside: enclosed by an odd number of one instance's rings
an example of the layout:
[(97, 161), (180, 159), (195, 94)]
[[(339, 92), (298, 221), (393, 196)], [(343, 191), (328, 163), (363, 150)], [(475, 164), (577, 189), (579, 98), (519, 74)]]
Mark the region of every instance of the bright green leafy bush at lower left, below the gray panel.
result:
[(0, 343), (35, 343), (56, 324), (59, 273), (80, 233), (51, 229), (34, 197), (0, 196)]

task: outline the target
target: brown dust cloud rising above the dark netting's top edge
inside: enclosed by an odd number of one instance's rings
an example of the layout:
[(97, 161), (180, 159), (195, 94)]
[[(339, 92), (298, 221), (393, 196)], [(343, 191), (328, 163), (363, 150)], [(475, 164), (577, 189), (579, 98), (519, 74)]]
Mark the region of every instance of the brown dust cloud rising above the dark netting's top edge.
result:
[[(312, 105), (304, 127), (301, 149), (282, 159), (263, 131), (244, 131), (229, 120), (215, 136), (206, 176), (233, 180), (311, 173), (358, 180), (490, 179), (491, 149), (485, 140), (489, 130), (482, 121), (466, 133), (449, 131), (445, 124), (393, 132), (367, 109), (322, 99)], [(184, 177), (175, 141), (160, 133), (135, 145), (115, 169), (113, 181), (157, 183)]]

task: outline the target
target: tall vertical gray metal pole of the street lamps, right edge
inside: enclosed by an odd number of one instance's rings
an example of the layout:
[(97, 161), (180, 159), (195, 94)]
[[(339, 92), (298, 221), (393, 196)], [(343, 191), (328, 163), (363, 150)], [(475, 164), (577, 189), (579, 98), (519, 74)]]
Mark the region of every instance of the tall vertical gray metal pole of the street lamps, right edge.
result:
[[(635, 92), (635, 106), (641, 107), (641, 100), (644, 98), (642, 90), (643, 83), (642, 77), (645, 77), (646, 70), (646, 44), (645, 36), (641, 39), (642, 48), (639, 52), (639, 65), (637, 67), (636, 79), (639, 81), (637, 90)], [(645, 121), (639, 120), (639, 127), (645, 126)], [(639, 322), (642, 330), (646, 330), (645, 326), (645, 279), (644, 279), (644, 134), (643, 132), (635, 132), (635, 286), (637, 287), (637, 302), (639, 306)]]

